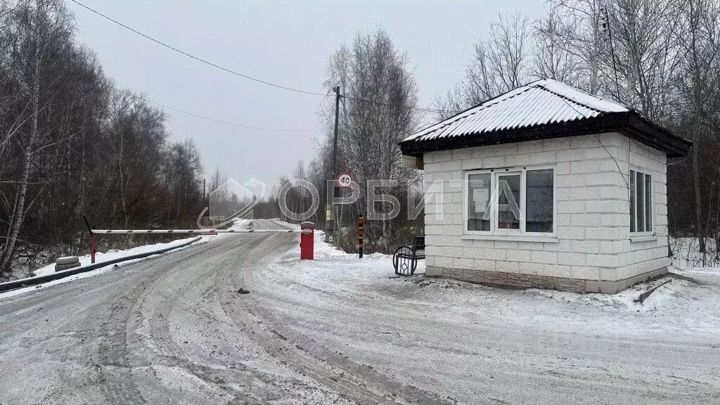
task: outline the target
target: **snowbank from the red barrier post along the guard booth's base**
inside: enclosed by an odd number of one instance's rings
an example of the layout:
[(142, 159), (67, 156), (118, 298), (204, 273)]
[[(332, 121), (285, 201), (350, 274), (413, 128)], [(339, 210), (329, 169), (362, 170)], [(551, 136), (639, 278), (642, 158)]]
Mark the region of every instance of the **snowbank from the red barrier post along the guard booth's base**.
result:
[[(458, 280), (423, 277), (425, 261), (418, 262), (418, 269), (411, 277), (399, 277), (392, 268), (392, 257), (386, 254), (369, 254), (359, 259), (357, 254), (347, 254), (323, 241), (322, 231), (315, 231), (315, 260), (298, 261), (295, 249), (271, 264), (278, 276), (276, 281), (287, 278), (287, 273), (299, 284), (315, 285), (333, 293), (356, 293), (377, 295), (391, 294), (412, 299), (418, 305), (432, 302), (454, 303), (458, 306), (480, 307), (487, 301), (503, 301), (518, 311), (528, 311), (525, 306), (563, 308), (569, 311), (600, 311), (621, 313), (647, 313), (648, 316), (667, 316), (680, 324), (703, 327), (715, 323), (720, 317), (720, 269), (679, 269), (672, 267), (670, 275), (660, 280), (641, 283), (616, 294), (578, 294), (556, 290), (508, 290), (475, 285)], [(696, 282), (673, 275), (692, 277)], [(644, 303), (634, 300), (649, 288), (670, 278), (672, 281), (652, 293)], [(284, 280), (287, 282), (287, 280)], [(482, 305), (481, 305), (482, 303)], [(512, 304), (510, 304), (512, 303)], [(524, 303), (524, 304), (521, 304)], [(524, 309), (523, 309), (524, 308)], [(578, 313), (580, 313), (578, 312)]]

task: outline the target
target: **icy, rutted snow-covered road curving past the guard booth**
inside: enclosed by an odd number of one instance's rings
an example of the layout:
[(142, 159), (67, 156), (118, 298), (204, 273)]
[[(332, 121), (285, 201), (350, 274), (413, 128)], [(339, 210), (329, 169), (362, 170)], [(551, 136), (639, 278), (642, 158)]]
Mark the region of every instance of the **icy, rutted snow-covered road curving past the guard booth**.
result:
[(1, 300), (0, 404), (720, 403), (717, 306), (389, 279), (372, 257), (309, 270), (296, 238), (216, 239)]

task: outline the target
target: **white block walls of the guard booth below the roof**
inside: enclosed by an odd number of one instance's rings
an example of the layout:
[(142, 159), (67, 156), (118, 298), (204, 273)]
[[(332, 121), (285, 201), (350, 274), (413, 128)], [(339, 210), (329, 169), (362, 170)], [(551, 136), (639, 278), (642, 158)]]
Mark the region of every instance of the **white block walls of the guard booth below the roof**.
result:
[[(520, 286), (554, 280), (551, 288), (560, 289), (563, 280), (586, 280), (582, 287), (570, 282), (568, 289), (600, 290), (604, 282), (617, 285), (667, 266), (665, 155), (629, 143), (623, 135), (603, 133), (426, 153), (426, 190), (435, 181), (444, 184), (442, 202), (426, 201), (428, 275), (480, 282), (491, 277)], [(654, 239), (630, 240), (628, 148), (631, 169), (653, 176)], [(465, 171), (546, 165), (556, 172), (553, 236), (465, 234)]]

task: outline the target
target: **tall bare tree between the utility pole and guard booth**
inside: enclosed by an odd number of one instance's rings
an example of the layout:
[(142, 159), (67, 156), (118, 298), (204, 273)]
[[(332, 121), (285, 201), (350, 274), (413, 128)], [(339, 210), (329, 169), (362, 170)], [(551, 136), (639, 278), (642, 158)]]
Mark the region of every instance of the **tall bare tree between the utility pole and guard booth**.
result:
[[(333, 54), (326, 85), (336, 84), (344, 93), (338, 166), (351, 170), (361, 185), (354, 216), (367, 204), (366, 180), (395, 179), (402, 184), (416, 176), (400, 166), (397, 143), (417, 129), (413, 107), (418, 89), (407, 56), (383, 30), (357, 35), (351, 46), (343, 45)], [(384, 191), (402, 194), (400, 187)], [(387, 252), (398, 226), (391, 221), (379, 224), (380, 228), (368, 227), (368, 240), (373, 241), (369, 246)]]

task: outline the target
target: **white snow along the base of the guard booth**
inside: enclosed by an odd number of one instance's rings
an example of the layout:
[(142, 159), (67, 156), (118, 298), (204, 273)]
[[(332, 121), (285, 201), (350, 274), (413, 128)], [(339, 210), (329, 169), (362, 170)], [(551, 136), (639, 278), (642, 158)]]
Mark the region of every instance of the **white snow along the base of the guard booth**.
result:
[[(683, 242), (687, 249), (688, 241)], [(457, 280), (433, 279), (423, 277), (425, 262), (418, 262), (418, 269), (412, 277), (398, 277), (392, 268), (392, 256), (386, 254), (369, 254), (359, 259), (357, 254), (346, 254), (323, 241), (323, 232), (315, 232), (315, 261), (294, 262), (292, 253), (287, 255), (286, 262), (275, 266), (290, 266), (288, 271), (302, 272), (314, 280), (332, 280), (333, 284), (348, 282), (364, 285), (366, 288), (380, 288), (389, 282), (396, 288), (404, 288), (405, 284), (418, 285), (422, 289), (420, 296), (430, 300), (451, 299), (452, 301), (471, 302), (478, 295), (498, 295), (515, 301), (519, 297), (532, 298), (533, 305), (567, 304), (580, 307), (606, 309), (618, 313), (650, 313), (651, 316), (665, 314), (689, 319), (720, 319), (720, 267), (670, 267), (670, 275), (649, 283), (635, 285), (617, 294), (577, 294), (556, 290), (505, 290)], [(687, 252), (685, 252), (687, 253)], [(678, 260), (677, 262), (681, 262)], [(679, 277), (675, 277), (679, 275)], [(687, 277), (696, 282), (686, 280)], [(666, 280), (671, 281), (658, 288), (644, 303), (634, 302), (641, 293), (660, 285)], [(699, 311), (699, 310), (703, 311)], [(713, 322), (708, 327), (720, 331), (720, 323)]]

